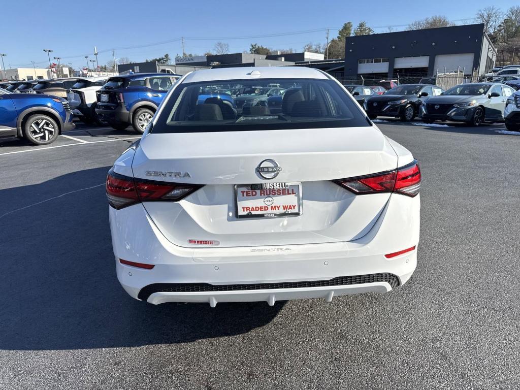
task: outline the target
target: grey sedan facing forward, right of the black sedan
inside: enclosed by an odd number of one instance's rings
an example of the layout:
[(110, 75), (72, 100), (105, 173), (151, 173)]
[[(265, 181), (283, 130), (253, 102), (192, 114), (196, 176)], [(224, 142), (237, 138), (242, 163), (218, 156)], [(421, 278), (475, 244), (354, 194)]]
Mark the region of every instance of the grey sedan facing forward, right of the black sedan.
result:
[(422, 119), (466, 122), (478, 126), (484, 122), (503, 120), (505, 100), (514, 90), (499, 83), (461, 84), (448, 89), (441, 96), (423, 100)]

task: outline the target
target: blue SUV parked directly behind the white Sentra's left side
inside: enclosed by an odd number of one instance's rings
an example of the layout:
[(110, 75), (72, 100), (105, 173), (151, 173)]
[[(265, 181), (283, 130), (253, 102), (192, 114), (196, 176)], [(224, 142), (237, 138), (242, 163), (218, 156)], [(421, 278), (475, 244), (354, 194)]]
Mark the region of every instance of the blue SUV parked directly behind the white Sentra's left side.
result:
[(136, 73), (110, 77), (96, 92), (96, 115), (111, 127), (123, 130), (132, 125), (144, 133), (153, 114), (180, 78), (178, 74)]

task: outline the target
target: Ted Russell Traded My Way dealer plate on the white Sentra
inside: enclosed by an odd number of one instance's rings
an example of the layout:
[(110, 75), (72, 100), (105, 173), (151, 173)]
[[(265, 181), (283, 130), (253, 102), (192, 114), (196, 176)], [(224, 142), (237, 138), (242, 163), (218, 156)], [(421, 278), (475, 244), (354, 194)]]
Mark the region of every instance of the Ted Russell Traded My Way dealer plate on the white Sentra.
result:
[(235, 186), (238, 218), (272, 218), (302, 214), (301, 183)]

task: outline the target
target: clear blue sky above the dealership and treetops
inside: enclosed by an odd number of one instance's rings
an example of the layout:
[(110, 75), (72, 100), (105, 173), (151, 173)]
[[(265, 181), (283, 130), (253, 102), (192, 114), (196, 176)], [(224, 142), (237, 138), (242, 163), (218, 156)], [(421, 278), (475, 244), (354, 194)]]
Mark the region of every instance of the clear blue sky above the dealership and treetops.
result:
[[(48, 66), (43, 52), (48, 48), (54, 50), (51, 53), (53, 57), (63, 58), (61, 62), (72, 62), (74, 69), (85, 66), (85, 55), (94, 58), (94, 45), (101, 52), (99, 64), (112, 59), (112, 48), (116, 49), (116, 58), (128, 57), (133, 61), (160, 57), (164, 53), (174, 58), (182, 53), (180, 41), (165, 41), (181, 36), (186, 37), (186, 52), (193, 54), (211, 51), (218, 41), (228, 43), (231, 53), (248, 50), (254, 42), (274, 49), (291, 47), (301, 51), (308, 42), (326, 42), (327, 28), (331, 29), (331, 37), (335, 37), (337, 29), (347, 21), (356, 25), (365, 20), (375, 32), (387, 32), (388, 28), (382, 26), (404, 25), (439, 14), (450, 20), (467, 19), (490, 4), (503, 11), (517, 4), (512, 0), (463, 3), (452, 0), (153, 0), (140, 1), (140, 6), (134, 6), (131, 0), (18, 0), (2, 3), (1, 14), (8, 17), (2, 18), (1, 22), (0, 53), (7, 54), (4, 57), (7, 68), (8, 64), (12, 67), (32, 66), (31, 61), (36, 61), (37, 66)], [(471, 23), (471, 20), (467, 22)], [(290, 34), (318, 29), (320, 31)], [(259, 35), (277, 36), (257, 37)], [(231, 39), (233, 37), (245, 38)], [(123, 49), (158, 42), (163, 43)], [(102, 53), (105, 50), (107, 52)]]

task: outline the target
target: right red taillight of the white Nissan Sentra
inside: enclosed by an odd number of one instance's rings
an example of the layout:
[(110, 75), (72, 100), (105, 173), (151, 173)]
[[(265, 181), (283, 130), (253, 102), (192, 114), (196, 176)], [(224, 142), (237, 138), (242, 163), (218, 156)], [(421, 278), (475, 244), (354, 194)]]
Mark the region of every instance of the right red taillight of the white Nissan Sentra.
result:
[(395, 171), (334, 180), (334, 183), (358, 195), (397, 192), (414, 197), (419, 193), (419, 188), (421, 187), (421, 171), (419, 170), (417, 160), (413, 160), (411, 164), (398, 168)]

